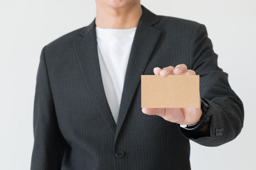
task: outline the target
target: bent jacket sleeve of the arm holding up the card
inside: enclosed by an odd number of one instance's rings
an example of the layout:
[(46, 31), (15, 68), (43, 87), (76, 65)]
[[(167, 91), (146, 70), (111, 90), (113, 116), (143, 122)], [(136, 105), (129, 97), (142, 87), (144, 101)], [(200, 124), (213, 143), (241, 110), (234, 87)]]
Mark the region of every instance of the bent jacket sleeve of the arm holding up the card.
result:
[(235, 139), (244, 121), (242, 101), (230, 88), (228, 74), (217, 63), (218, 55), (208, 38), (206, 27), (199, 24), (191, 38), (191, 69), (200, 75), (200, 96), (210, 108), (210, 133), (201, 136), (198, 132), (181, 129), (185, 137), (200, 145), (215, 147)]

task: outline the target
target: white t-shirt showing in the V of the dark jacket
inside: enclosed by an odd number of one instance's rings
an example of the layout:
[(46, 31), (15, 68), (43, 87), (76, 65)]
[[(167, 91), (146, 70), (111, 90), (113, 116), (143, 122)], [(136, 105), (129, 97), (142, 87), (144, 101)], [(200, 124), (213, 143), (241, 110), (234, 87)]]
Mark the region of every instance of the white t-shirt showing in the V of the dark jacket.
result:
[(117, 123), (124, 77), (136, 28), (96, 27), (100, 72), (115, 123)]

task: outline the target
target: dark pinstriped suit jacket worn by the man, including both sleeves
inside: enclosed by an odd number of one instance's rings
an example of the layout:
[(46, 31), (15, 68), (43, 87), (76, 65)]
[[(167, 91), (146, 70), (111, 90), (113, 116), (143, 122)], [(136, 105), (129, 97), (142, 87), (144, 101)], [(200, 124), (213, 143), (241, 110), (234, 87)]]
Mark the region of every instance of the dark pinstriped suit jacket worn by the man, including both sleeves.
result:
[[(141, 111), (140, 75), (184, 63), (201, 75), (210, 136)], [(223, 145), (242, 129), (243, 106), (217, 65), (205, 26), (142, 6), (117, 125), (97, 56), (95, 20), (43, 47), (36, 77), (31, 169), (191, 169), (188, 139)]]

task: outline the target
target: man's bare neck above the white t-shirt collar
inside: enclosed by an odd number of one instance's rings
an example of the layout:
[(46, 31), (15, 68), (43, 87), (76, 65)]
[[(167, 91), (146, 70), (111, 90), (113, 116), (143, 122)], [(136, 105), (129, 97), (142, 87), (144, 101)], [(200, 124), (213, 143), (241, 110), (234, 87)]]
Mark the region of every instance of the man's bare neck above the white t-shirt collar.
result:
[(97, 4), (95, 24), (100, 28), (128, 29), (137, 27), (142, 16), (140, 2), (120, 8)]

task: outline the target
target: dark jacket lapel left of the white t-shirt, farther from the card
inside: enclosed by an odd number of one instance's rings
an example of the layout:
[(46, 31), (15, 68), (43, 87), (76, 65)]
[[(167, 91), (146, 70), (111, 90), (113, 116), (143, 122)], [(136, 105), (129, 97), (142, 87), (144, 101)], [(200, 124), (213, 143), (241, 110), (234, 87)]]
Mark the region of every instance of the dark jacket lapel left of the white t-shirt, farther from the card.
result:
[(87, 89), (90, 91), (90, 95), (95, 102), (95, 108), (101, 113), (102, 118), (105, 119), (112, 132), (115, 133), (116, 124), (114, 123), (110, 106), (107, 103), (100, 73), (100, 63), (97, 55), (95, 19), (89, 26), (82, 29), (80, 35), (82, 35), (82, 38), (74, 43), (79, 67), (82, 69)]

